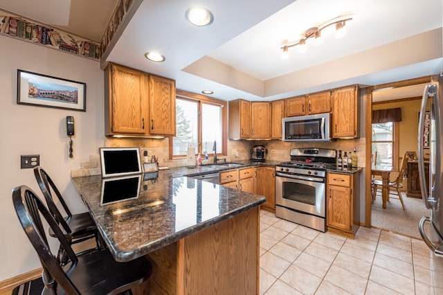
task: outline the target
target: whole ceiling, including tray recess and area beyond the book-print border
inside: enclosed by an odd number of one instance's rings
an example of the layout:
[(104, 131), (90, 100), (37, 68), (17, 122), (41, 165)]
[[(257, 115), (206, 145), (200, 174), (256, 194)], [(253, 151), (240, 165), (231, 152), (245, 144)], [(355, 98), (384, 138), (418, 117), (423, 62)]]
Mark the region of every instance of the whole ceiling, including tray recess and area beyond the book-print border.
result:
[[(107, 61), (173, 78), (178, 89), (210, 89), (224, 100), (273, 100), (443, 69), (441, 0), (133, 1), (139, 7)], [(30, 2), (38, 4), (35, 9)], [(0, 0), (0, 8), (98, 40), (117, 2)], [(211, 26), (186, 22), (186, 10), (197, 5), (213, 12)], [(308, 44), (303, 54), (290, 48), (289, 60), (280, 59), (283, 39), (296, 40), (307, 28), (347, 13), (353, 19), (345, 37)], [(146, 60), (144, 53), (152, 50), (166, 61)]]

